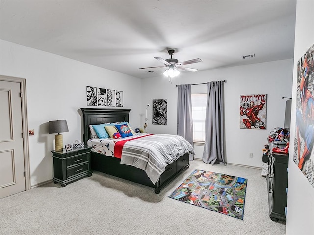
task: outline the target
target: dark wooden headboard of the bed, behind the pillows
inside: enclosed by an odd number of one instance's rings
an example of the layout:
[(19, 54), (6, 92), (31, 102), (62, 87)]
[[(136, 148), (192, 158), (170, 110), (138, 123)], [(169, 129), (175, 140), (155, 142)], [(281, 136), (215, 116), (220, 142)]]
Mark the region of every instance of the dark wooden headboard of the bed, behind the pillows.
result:
[(129, 121), (131, 109), (98, 109), (98, 108), (80, 108), (83, 118), (83, 141), (91, 138), (89, 125), (98, 125), (107, 122)]

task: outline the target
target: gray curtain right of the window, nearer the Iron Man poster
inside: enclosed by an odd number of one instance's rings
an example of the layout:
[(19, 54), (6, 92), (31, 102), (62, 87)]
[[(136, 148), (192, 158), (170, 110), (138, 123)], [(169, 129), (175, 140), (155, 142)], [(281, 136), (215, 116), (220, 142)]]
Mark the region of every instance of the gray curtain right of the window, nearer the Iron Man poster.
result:
[(207, 83), (207, 107), (205, 118), (205, 145), (203, 162), (207, 164), (226, 164), (224, 160), (223, 103), (224, 82)]

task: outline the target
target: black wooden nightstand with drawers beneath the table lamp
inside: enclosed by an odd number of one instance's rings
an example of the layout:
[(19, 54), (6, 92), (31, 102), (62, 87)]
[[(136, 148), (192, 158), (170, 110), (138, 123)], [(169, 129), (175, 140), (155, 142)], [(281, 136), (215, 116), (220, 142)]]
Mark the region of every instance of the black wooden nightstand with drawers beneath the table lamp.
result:
[(51, 151), (53, 155), (53, 182), (65, 187), (68, 183), (92, 176), (90, 164), (92, 147), (63, 151)]

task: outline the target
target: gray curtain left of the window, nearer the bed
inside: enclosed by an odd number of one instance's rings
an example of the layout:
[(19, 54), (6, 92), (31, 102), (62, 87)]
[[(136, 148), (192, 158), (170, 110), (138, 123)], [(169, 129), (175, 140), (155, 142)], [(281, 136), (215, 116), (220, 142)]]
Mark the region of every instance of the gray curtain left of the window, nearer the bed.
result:
[[(193, 146), (193, 121), (191, 85), (178, 85), (177, 135), (183, 136)], [(190, 154), (190, 160), (193, 160)]]

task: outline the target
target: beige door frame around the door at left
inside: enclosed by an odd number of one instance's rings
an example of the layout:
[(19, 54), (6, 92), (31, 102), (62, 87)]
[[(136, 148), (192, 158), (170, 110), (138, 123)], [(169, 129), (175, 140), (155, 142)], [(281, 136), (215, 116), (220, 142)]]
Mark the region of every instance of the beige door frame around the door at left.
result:
[(26, 102), (26, 79), (0, 75), (0, 80), (20, 83), (21, 87), (21, 106), (22, 106), (22, 129), (23, 129), (23, 153), (25, 171), (25, 190), (30, 190), (30, 168), (29, 168), (29, 146), (28, 146), (28, 121), (27, 121), (27, 102)]

